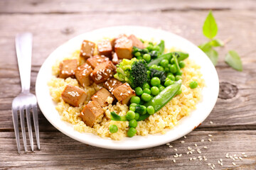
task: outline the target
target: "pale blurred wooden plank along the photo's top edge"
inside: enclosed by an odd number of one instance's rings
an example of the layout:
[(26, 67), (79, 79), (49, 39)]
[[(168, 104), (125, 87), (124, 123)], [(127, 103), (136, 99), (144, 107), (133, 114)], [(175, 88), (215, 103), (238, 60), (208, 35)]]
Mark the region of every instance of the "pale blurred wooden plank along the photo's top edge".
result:
[[(22, 8), (21, 8), (22, 6)], [(154, 12), (154, 11), (201, 11), (208, 9), (230, 10), (230, 9), (248, 9), (254, 10), (256, 3), (253, 0), (239, 1), (235, 0), (230, 3), (228, 0), (219, 1), (0, 1), (1, 13), (131, 13)]]

